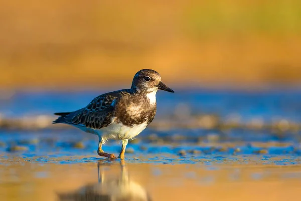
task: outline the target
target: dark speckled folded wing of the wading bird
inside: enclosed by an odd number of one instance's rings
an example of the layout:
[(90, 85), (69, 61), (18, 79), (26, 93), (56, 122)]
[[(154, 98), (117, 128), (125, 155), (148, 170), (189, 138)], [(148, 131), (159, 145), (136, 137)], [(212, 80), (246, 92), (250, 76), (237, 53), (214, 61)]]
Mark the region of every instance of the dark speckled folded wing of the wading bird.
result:
[(101, 129), (111, 123), (114, 111), (114, 100), (119, 93), (110, 92), (100, 95), (92, 100), (85, 108), (71, 112), (68, 115), (58, 118), (60, 122), (74, 126), (83, 126), (93, 129)]

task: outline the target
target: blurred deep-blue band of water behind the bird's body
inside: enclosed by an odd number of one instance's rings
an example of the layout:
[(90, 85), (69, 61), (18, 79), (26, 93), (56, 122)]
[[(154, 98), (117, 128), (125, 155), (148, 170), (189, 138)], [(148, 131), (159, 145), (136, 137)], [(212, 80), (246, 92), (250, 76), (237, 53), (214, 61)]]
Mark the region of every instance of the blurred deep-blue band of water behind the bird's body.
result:
[[(108, 91), (20, 91), (9, 100), (0, 100), (0, 112), (18, 117), (73, 111), (86, 106), (93, 98)], [(301, 120), (301, 91), (272, 90), (246, 92), (231, 90), (179, 90), (174, 94), (159, 91), (158, 116), (170, 114), (179, 103), (188, 104), (193, 113), (226, 117), (238, 113), (243, 120), (260, 116), (266, 120), (280, 116)]]

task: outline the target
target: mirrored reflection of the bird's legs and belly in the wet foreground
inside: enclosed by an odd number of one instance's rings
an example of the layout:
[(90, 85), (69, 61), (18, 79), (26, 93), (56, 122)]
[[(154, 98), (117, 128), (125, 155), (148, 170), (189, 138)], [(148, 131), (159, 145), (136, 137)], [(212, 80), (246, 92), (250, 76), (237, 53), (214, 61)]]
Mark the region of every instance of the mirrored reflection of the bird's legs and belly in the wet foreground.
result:
[(151, 200), (146, 190), (128, 177), (127, 167), (122, 160), (121, 175), (117, 178), (105, 177), (101, 162), (98, 162), (98, 183), (86, 185), (71, 193), (59, 194), (62, 201), (106, 200), (106, 201), (144, 201)]

